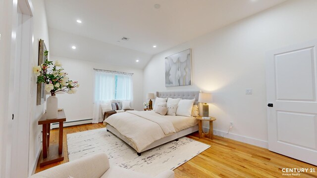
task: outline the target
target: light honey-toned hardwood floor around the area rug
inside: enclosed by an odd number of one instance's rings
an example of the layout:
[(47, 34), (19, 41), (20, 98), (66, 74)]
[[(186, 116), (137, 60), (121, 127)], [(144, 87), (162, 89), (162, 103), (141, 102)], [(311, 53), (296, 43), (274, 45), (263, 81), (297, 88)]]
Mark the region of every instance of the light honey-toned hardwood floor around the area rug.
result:
[[(64, 161), (44, 167), (40, 167), (38, 164), (36, 173), (68, 162), (66, 134), (104, 127), (102, 124), (87, 124), (64, 128)], [(211, 147), (175, 169), (175, 178), (317, 178), (316, 166), (270, 152), (258, 146), (216, 135), (213, 140), (198, 138), (198, 132), (190, 134), (188, 137), (209, 144)], [(58, 130), (51, 131), (50, 142), (58, 142)], [(316, 172), (300, 173), (300, 176), (283, 176), (283, 168), (315, 168)]]

